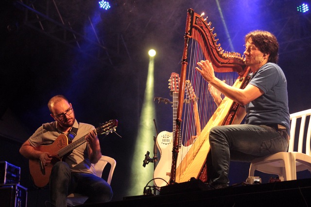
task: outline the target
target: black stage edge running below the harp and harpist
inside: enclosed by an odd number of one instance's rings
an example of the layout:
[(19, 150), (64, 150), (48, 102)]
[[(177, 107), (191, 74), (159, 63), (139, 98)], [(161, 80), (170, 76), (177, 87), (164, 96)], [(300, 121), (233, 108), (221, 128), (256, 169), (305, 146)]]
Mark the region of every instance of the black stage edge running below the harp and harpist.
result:
[[(311, 207), (311, 179), (206, 190), (201, 184), (176, 183), (160, 195), (125, 197), (122, 201), (79, 207)], [(195, 182), (195, 181), (194, 181)], [(173, 186), (172, 185), (172, 186)], [(164, 190), (165, 189), (165, 190)]]

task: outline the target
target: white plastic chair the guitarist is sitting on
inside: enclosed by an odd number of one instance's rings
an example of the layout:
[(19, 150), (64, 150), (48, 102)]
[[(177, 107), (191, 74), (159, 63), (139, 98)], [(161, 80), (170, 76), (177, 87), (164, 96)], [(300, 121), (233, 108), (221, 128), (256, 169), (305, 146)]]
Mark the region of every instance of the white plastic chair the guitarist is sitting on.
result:
[[(113, 158), (110, 158), (108, 156), (102, 156), (101, 159), (98, 160), (98, 162), (96, 164), (92, 164), (92, 167), (95, 170), (95, 174), (99, 177), (102, 177), (103, 171), (104, 171), (104, 167), (106, 166), (106, 164), (109, 163), (110, 166), (110, 171), (108, 174), (108, 178), (107, 178), (107, 183), (110, 185), (111, 183), (111, 179), (112, 179), (112, 175), (113, 172), (115, 170), (116, 167), (116, 160)], [(71, 193), (67, 196), (67, 206), (77, 206), (77, 205), (81, 205), (84, 204), (86, 202), (86, 200), (88, 199), (87, 196), (81, 195), (79, 193)]]

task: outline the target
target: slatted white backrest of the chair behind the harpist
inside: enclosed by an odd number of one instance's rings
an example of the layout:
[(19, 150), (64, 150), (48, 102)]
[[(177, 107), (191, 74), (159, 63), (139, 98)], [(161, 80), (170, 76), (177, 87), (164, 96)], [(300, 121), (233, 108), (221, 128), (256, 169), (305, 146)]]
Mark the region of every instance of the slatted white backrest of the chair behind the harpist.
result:
[[(288, 147), (288, 152), (299, 152), (303, 153), (303, 144), (305, 141), (306, 145), (306, 152), (305, 154), (311, 155), (311, 150), (310, 150), (310, 140), (311, 140), (311, 120), (310, 120), (310, 115), (311, 115), (311, 109), (305, 110), (305, 111), (299, 111), (296, 113), (290, 114), (291, 118), (291, 135), (290, 135), (290, 143)], [(309, 116), (309, 118), (307, 118)], [(297, 125), (297, 119), (300, 119), (300, 127), (296, 126)], [(307, 129), (307, 136), (304, 136), (305, 134), (305, 127), (306, 126), (306, 121), (309, 120), (308, 124), (308, 129)], [(299, 134), (295, 135), (296, 129), (299, 127)], [(298, 147), (297, 150), (294, 150), (294, 144), (295, 144), (295, 137), (298, 138)]]

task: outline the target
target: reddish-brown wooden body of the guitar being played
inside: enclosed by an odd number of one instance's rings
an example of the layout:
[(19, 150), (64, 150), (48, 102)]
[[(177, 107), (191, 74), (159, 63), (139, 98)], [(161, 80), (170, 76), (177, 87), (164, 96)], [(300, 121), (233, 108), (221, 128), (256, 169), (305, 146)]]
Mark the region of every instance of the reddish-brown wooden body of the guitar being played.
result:
[(32, 176), (35, 186), (42, 188), (49, 183), (53, 165), (61, 160), (61, 158), (57, 157), (58, 151), (66, 146), (68, 146), (68, 138), (65, 134), (61, 134), (51, 145), (39, 145), (35, 147), (35, 150), (47, 152), (52, 155), (51, 163), (43, 166), (43, 168), (42, 166), (40, 166), (40, 160), (29, 160), (30, 175)]

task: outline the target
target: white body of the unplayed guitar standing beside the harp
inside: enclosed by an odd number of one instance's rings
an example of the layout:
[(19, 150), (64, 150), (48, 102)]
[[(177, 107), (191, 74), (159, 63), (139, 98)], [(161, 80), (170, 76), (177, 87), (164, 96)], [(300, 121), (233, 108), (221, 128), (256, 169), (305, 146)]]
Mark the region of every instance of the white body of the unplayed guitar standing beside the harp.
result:
[(160, 152), (160, 161), (157, 163), (154, 178), (154, 183), (157, 187), (166, 186), (170, 180), (172, 168), (172, 149), (173, 149), (173, 132), (162, 131), (156, 137), (156, 145)]

